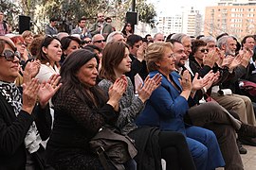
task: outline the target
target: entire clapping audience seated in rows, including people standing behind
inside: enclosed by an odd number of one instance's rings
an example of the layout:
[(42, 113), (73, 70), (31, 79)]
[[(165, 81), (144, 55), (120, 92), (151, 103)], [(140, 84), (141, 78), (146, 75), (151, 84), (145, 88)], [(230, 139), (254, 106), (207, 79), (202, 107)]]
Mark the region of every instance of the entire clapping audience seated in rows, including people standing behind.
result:
[(254, 35), (141, 37), (101, 12), (70, 35), (54, 18), (46, 35), (15, 35), (3, 18), (0, 169), (103, 169), (89, 142), (105, 125), (135, 140), (123, 169), (244, 169), (242, 144), (256, 146)]

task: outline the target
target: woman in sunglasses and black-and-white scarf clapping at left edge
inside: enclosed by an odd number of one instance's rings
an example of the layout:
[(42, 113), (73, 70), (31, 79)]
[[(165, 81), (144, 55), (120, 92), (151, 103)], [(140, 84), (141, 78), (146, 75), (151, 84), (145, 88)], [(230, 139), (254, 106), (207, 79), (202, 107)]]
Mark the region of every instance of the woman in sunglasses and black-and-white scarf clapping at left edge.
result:
[(60, 77), (52, 76), (40, 84), (32, 78), (38, 65), (28, 62), (19, 90), (14, 84), (20, 67), (15, 51), (14, 43), (0, 36), (0, 169), (50, 169), (44, 163), (41, 143), (50, 134), (48, 100), (60, 88), (52, 88)]

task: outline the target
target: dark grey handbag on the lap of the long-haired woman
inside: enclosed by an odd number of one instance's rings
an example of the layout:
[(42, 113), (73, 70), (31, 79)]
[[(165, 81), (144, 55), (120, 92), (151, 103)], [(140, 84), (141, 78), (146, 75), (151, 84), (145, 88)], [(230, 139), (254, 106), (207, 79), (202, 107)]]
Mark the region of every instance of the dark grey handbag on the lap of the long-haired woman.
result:
[(117, 169), (124, 170), (123, 163), (137, 155), (135, 142), (127, 135), (122, 135), (115, 127), (101, 127), (89, 142), (91, 149), (98, 154), (105, 170), (109, 170), (108, 161)]

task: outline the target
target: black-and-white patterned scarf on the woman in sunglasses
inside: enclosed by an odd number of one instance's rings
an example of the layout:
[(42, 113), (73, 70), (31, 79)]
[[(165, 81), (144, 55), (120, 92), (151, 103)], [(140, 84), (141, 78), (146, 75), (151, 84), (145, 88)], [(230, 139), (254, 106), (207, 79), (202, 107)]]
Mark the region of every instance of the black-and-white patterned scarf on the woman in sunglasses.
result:
[[(7, 102), (12, 106), (15, 115), (18, 116), (22, 109), (22, 94), (19, 89), (16, 87), (15, 83), (8, 83), (0, 81), (0, 93), (6, 97)], [(33, 121), (32, 125), (27, 131), (25, 137), (25, 145), (29, 153), (36, 152), (41, 144), (42, 140), (38, 133), (35, 122)]]

